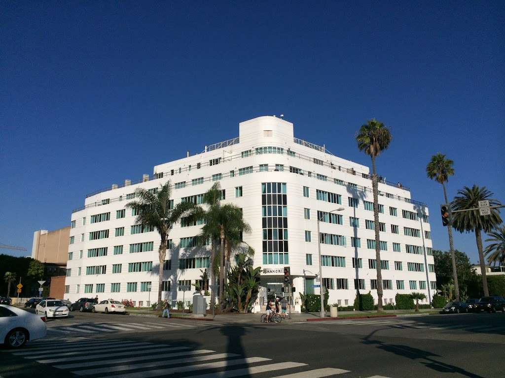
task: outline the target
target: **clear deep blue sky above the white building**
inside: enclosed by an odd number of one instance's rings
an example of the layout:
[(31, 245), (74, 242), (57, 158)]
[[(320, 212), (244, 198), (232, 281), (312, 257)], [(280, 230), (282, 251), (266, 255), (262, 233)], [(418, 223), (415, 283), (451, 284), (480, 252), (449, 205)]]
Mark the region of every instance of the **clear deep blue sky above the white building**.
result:
[[(283, 113), (367, 165), (356, 130), (388, 125), (379, 173), (429, 205), (447, 249), (432, 154), (455, 161), (451, 196), (505, 202), (505, 3), (371, 3), (2, 2), (0, 241), (31, 250), (86, 193)], [(455, 245), (477, 261), (475, 235)]]

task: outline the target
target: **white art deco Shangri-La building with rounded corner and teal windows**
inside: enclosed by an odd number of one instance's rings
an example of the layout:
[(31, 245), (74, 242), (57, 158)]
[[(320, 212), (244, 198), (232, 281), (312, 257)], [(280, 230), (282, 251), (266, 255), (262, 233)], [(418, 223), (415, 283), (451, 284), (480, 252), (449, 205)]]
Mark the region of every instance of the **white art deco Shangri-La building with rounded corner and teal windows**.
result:
[[(377, 298), (369, 168), (294, 138), (293, 124), (275, 116), (241, 122), (237, 138), (157, 165), (138, 182), (125, 180), (86, 196), (84, 207), (72, 213), (65, 298), (97, 295), (142, 306), (156, 301), (160, 237), (136, 225), (125, 205), (137, 187), (156, 190), (168, 180), (175, 203), (201, 203), (219, 180), (223, 202), (242, 208), (253, 230), (244, 240), (256, 250), (255, 266), (263, 268), (257, 309), (267, 291), (282, 291), (285, 266), (296, 288), (296, 309), (298, 292), (319, 293), (319, 263), (330, 304), (352, 305), (357, 289)], [(432, 295), (436, 278), (426, 205), (412, 200), (406, 186), (383, 178), (379, 195), (384, 301), (394, 302), (396, 293)], [(200, 227), (179, 223), (171, 230), (164, 298), (190, 299), (192, 291), (181, 289), (200, 280), (209, 265), (210, 246), (196, 245)]]

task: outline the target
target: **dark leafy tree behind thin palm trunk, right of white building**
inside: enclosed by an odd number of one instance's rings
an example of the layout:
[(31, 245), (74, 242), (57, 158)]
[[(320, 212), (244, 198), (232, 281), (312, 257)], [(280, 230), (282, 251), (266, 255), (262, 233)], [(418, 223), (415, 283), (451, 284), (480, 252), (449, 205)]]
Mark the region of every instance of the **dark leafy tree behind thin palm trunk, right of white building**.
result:
[[(459, 291), (461, 292), (461, 297), (466, 296), (479, 296), (479, 290), (476, 289), (476, 283), (479, 281), (479, 277), (472, 269), (472, 264), (470, 264), (470, 259), (468, 256), (456, 249), (454, 251), (456, 271), (458, 272), (458, 284)], [(456, 285), (454, 285), (453, 280), (453, 269), (452, 269), (452, 255), (450, 252), (441, 251), (438, 249), (433, 249), (433, 261), (435, 265), (435, 272), (437, 274), (437, 287), (443, 289), (447, 287), (446, 285), (452, 284), (453, 289), (451, 293), (456, 292)], [(445, 294), (448, 296), (448, 290), (445, 290)], [(449, 300), (453, 299), (452, 294), (448, 297)]]

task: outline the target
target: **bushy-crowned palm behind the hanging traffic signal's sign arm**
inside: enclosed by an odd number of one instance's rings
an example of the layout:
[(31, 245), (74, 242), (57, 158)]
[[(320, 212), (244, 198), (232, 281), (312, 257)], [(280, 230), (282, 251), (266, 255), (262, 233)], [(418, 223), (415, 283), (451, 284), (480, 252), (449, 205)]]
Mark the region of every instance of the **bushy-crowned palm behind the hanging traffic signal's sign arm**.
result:
[[(491, 213), (489, 215), (481, 216), (478, 208), (479, 201), (484, 200), (489, 201), (489, 206), (500, 206), (501, 204), (499, 201), (491, 198), (494, 194), (488, 191), (485, 186), (479, 187), (475, 184), (471, 188), (465, 186), (462, 190), (458, 191), (458, 194), (461, 196), (455, 197), (451, 205), (454, 228), (460, 232), (475, 232), (477, 249), (479, 251), (480, 270), (482, 272), (482, 288), (484, 289), (484, 296), (488, 296), (489, 290), (487, 288), (481, 232), (490, 232), (501, 223), (501, 218), (496, 209), (490, 209)], [(464, 211), (455, 213), (454, 211), (456, 210)]]

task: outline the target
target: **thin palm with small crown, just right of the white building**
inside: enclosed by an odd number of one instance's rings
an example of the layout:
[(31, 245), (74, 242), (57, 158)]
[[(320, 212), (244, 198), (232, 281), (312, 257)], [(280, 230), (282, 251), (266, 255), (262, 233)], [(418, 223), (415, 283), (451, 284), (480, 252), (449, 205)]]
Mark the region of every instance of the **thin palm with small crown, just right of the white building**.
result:
[[(446, 159), (445, 155), (438, 152), (436, 155), (431, 157), (430, 162), (426, 166), (426, 174), (428, 178), (437, 181), (442, 184), (443, 187), (443, 197), (445, 203), (448, 204), (447, 190), (445, 188), (445, 183), (449, 180), (449, 176), (454, 175), (454, 168), (452, 165), (454, 162), (450, 159)], [(449, 250), (450, 258), (452, 261), (452, 279), (454, 280), (454, 286), (456, 289), (456, 300), (460, 300), (460, 286), (458, 285), (458, 272), (456, 270), (456, 255), (454, 253), (454, 241), (452, 239), (452, 224), (447, 225), (447, 232), (449, 233)]]

